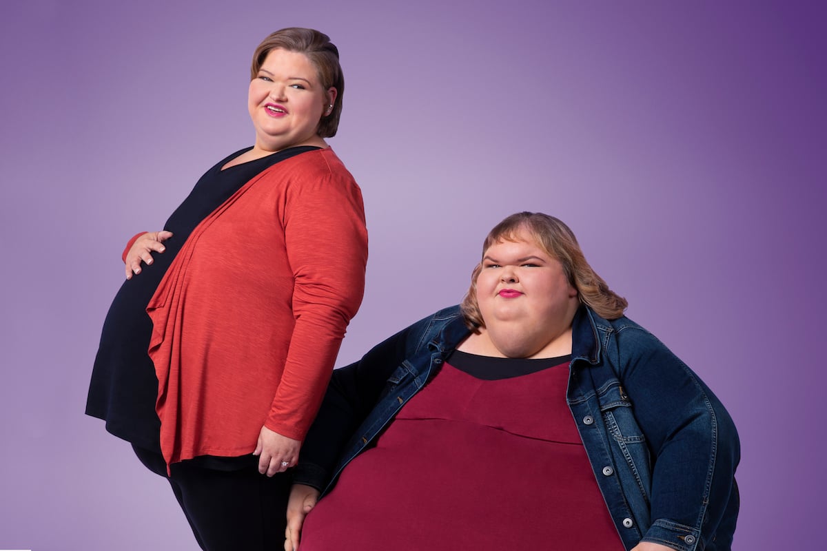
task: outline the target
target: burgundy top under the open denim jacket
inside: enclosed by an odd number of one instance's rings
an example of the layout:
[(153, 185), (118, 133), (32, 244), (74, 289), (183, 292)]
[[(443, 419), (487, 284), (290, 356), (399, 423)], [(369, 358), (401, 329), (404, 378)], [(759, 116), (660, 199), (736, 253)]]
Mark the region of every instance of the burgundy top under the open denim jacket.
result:
[[(492, 360), (546, 368), (484, 380), (453, 367)], [(622, 551), (566, 406), (568, 363), (449, 361), (318, 502), (300, 551)]]

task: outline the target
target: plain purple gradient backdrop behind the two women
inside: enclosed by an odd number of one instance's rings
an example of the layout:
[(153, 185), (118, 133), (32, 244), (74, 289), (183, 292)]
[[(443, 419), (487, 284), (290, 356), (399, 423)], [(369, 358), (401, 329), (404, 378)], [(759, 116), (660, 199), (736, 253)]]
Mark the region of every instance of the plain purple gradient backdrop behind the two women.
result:
[(457, 302), (495, 222), (555, 214), (738, 424), (734, 548), (823, 541), (820, 2), (226, 3), (0, 7), (0, 548), (196, 549), (86, 388), (122, 245), (251, 144), (249, 58), (283, 26), (347, 75), (370, 263), (337, 365)]

